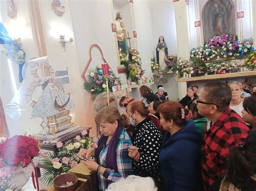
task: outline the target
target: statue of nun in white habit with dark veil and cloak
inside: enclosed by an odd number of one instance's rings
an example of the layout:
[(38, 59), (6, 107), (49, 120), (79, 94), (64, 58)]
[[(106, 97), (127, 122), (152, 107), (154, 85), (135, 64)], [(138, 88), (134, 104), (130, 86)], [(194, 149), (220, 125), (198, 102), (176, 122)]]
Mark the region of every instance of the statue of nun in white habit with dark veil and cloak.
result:
[(157, 62), (159, 63), (159, 67), (161, 70), (164, 70), (166, 68), (164, 58), (165, 58), (165, 56), (168, 55), (168, 48), (165, 44), (163, 36), (160, 36), (158, 39), (156, 52), (157, 52)]

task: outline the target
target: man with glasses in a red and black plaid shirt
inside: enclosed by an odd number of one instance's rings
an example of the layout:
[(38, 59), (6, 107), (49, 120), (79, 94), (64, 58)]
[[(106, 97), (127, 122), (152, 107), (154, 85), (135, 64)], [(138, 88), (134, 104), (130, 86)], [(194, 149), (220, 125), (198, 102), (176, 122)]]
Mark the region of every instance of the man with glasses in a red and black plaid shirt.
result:
[(209, 82), (199, 92), (198, 113), (211, 121), (202, 146), (202, 178), (205, 190), (226, 171), (226, 158), (232, 148), (244, 142), (249, 131), (244, 120), (229, 105), (231, 89), (223, 82)]

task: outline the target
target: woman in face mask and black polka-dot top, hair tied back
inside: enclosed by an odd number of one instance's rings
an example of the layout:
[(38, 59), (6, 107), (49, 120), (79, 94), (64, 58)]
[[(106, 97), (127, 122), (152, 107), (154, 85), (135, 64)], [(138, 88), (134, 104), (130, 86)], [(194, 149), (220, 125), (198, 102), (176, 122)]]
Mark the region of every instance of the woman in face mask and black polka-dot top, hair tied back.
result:
[(150, 176), (155, 181), (159, 179), (159, 150), (162, 141), (161, 132), (148, 117), (149, 102), (136, 100), (128, 104), (127, 117), (136, 131), (132, 135), (129, 156), (133, 159), (132, 171), (134, 175)]

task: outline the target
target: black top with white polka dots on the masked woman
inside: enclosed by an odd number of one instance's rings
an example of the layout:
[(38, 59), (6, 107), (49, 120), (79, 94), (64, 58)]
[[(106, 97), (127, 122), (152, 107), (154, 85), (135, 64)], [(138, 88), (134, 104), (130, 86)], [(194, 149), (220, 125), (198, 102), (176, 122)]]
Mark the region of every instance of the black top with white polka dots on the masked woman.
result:
[(159, 150), (163, 136), (157, 126), (147, 117), (136, 126), (132, 136), (133, 145), (139, 148), (140, 158), (133, 163), (133, 174), (159, 177)]

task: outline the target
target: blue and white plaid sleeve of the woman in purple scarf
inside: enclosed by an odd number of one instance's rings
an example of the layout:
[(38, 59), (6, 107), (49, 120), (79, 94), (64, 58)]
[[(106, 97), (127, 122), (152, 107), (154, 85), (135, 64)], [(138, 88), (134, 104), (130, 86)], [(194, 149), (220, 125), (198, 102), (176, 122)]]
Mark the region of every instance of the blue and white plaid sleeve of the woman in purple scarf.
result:
[(120, 139), (120, 142), (117, 146), (117, 168), (118, 172), (114, 169), (107, 168), (103, 176), (115, 182), (120, 178), (126, 178), (132, 173), (132, 159), (128, 155), (128, 147), (132, 146), (131, 139), (127, 133), (125, 133), (124, 139)]

